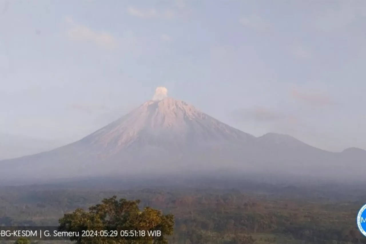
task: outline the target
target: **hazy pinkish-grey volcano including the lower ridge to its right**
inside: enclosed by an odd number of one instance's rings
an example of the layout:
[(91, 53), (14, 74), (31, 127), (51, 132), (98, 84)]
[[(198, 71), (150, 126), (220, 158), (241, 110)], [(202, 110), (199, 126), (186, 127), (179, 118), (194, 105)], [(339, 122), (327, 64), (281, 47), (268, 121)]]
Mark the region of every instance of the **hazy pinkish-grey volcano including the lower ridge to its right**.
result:
[[(163, 94), (164, 95), (164, 94)], [(294, 137), (254, 137), (181, 100), (154, 96), (130, 113), (75, 143), (3, 160), (2, 179), (57, 179), (191, 172), (360, 175), (366, 151), (335, 153)]]

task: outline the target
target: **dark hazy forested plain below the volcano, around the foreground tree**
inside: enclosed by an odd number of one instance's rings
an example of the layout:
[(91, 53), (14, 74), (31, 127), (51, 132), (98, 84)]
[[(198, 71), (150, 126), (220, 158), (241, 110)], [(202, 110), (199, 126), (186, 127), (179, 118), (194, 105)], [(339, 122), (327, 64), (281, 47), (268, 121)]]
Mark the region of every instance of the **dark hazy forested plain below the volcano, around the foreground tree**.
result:
[(362, 186), (235, 184), (1, 187), (0, 225), (58, 226), (65, 214), (116, 196), (173, 215), (171, 244), (366, 243), (355, 221), (366, 203)]

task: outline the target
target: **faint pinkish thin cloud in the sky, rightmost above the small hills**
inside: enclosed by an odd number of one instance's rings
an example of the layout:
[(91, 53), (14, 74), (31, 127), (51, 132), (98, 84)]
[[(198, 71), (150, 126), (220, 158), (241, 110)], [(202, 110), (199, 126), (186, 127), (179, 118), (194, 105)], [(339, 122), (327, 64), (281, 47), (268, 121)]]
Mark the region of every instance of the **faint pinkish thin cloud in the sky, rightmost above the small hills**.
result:
[(292, 98), (302, 101), (311, 107), (326, 107), (335, 104), (333, 99), (326, 94), (310, 93), (304, 91), (300, 92), (297, 89), (291, 90), (290, 94)]

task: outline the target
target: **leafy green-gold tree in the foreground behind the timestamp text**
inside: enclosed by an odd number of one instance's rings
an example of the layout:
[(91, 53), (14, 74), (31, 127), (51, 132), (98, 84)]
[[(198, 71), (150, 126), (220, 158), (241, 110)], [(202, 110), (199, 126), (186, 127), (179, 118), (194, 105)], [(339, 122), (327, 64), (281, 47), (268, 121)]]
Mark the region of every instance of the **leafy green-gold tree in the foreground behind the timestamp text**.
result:
[[(81, 208), (59, 220), (59, 231), (74, 232), (77, 244), (165, 244), (173, 234), (174, 216), (150, 207), (139, 210), (140, 200), (102, 200), (89, 211)], [(160, 235), (159, 235), (160, 231)]]

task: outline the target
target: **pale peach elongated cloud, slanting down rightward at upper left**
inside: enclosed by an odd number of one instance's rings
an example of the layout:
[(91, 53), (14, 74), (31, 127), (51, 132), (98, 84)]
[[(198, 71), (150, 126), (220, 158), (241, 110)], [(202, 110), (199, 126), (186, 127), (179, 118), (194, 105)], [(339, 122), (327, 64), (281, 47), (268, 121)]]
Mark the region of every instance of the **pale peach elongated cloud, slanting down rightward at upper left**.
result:
[(100, 47), (111, 49), (117, 47), (117, 40), (112, 34), (96, 32), (89, 27), (79, 25), (70, 16), (65, 18), (65, 22), (70, 25), (66, 35), (72, 41), (89, 41)]

